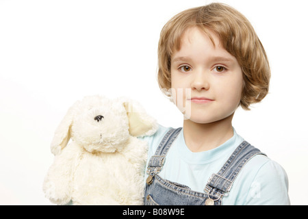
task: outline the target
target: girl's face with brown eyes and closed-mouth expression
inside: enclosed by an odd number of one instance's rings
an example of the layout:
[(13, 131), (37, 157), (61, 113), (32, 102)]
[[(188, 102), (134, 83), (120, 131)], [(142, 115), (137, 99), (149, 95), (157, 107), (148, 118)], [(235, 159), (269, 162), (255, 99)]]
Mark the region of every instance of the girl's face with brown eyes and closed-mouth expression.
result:
[[(210, 32), (211, 33), (211, 32)], [(172, 97), (186, 119), (213, 123), (233, 115), (240, 103), (243, 77), (236, 58), (211, 33), (192, 27), (171, 57)]]

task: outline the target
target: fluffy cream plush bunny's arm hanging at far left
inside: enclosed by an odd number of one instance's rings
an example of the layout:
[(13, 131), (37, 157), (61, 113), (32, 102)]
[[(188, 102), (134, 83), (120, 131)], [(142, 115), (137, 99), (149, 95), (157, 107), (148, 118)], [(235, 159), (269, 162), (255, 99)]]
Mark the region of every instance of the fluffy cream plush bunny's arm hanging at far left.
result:
[(81, 148), (71, 142), (55, 159), (44, 179), (43, 190), (51, 203), (65, 205), (71, 199), (73, 191), (73, 168), (77, 162)]

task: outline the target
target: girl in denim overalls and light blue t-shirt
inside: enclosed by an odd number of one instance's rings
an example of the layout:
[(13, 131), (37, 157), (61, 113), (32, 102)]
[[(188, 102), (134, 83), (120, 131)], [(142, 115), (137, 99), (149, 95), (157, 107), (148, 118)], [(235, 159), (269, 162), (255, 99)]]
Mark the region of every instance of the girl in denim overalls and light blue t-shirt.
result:
[(144, 137), (144, 204), (289, 205), (283, 168), (232, 126), (238, 106), (264, 99), (270, 80), (247, 19), (222, 3), (185, 10), (162, 29), (158, 60), (159, 86), (184, 120)]

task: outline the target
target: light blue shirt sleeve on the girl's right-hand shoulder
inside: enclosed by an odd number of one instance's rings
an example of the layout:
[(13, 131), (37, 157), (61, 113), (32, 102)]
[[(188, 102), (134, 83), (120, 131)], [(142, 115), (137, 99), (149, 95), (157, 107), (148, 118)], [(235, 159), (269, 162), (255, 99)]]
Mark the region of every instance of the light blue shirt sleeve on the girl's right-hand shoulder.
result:
[(247, 162), (236, 181), (241, 205), (290, 205), (285, 170), (264, 155)]

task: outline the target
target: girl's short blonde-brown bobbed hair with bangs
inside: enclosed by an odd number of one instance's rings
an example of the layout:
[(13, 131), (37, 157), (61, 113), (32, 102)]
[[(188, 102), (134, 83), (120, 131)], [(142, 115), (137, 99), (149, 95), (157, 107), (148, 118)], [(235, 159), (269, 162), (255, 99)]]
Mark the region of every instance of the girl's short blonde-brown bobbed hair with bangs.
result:
[[(270, 66), (266, 51), (247, 18), (229, 5), (211, 3), (185, 10), (164, 25), (158, 46), (158, 83), (162, 90), (171, 88), (171, 57), (181, 48), (181, 36), (190, 27), (198, 27), (214, 40), (209, 30), (217, 34), (220, 43), (242, 67), (244, 86), (240, 105), (250, 110), (268, 94)], [(166, 94), (166, 92), (165, 92)], [(168, 96), (168, 94), (166, 94)]]

